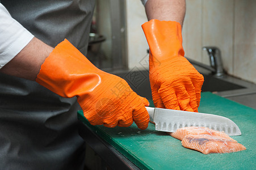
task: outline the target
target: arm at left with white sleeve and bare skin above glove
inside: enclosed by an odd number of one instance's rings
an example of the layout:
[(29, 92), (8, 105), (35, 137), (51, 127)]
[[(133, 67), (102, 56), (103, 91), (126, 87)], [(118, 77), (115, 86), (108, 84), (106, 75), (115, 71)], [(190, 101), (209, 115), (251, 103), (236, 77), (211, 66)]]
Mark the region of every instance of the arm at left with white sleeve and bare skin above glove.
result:
[(35, 80), (53, 50), (11, 17), (0, 3), (0, 72)]

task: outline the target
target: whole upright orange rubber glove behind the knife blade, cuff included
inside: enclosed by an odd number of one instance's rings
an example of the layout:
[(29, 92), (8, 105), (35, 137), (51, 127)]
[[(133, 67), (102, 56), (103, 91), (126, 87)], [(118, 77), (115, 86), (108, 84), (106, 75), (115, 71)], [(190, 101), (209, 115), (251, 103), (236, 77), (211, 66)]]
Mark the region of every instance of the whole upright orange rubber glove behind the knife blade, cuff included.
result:
[(150, 20), (142, 25), (149, 54), (149, 79), (158, 108), (198, 112), (203, 75), (184, 58), (178, 22)]

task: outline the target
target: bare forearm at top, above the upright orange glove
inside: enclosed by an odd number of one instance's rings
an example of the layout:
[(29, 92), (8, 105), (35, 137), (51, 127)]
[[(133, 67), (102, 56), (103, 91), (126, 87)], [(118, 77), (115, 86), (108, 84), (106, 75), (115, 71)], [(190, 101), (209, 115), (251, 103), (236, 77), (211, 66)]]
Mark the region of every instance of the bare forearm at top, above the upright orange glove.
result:
[(145, 5), (148, 20), (171, 20), (183, 24), (186, 12), (185, 0), (148, 0)]

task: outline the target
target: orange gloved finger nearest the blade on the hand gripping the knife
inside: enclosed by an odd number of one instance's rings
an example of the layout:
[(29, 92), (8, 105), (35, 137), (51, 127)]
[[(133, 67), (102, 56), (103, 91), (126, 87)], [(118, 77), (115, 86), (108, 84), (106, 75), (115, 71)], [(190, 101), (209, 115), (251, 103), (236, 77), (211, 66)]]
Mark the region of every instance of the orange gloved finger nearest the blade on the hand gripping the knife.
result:
[(133, 121), (141, 130), (148, 128), (149, 113), (146, 111), (145, 106), (140, 103), (135, 109), (133, 109)]

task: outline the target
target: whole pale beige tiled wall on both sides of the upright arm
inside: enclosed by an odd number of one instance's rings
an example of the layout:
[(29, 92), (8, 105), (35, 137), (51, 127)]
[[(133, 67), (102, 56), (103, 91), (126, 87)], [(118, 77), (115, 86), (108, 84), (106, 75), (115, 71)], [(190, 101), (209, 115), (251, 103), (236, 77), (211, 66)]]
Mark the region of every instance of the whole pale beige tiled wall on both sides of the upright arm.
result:
[[(148, 48), (141, 24), (146, 22), (139, 0), (127, 1), (128, 65), (140, 66)], [(221, 50), (228, 74), (256, 83), (256, 1), (188, 0), (183, 24), (186, 57), (209, 64), (203, 46)]]

